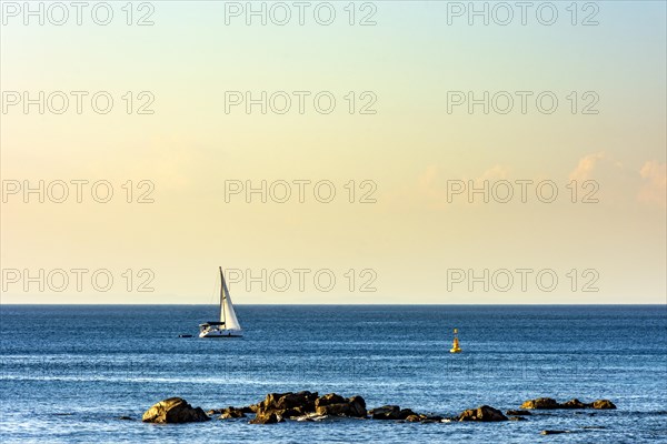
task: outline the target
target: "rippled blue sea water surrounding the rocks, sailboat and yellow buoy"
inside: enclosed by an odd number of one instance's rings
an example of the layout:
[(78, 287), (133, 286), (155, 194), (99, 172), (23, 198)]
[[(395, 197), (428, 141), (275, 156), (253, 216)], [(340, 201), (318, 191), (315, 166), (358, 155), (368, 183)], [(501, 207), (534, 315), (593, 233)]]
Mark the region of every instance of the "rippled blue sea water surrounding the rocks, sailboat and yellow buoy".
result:
[[(667, 310), (654, 306), (237, 307), (243, 339), (196, 335), (216, 309), (0, 306), (0, 440), (13, 442), (667, 442)], [(450, 354), (458, 327), (464, 353)], [(615, 411), (528, 421), (141, 423), (170, 396), (205, 410), (269, 392), (360, 394), (454, 415), (550, 396)], [(129, 415), (137, 421), (121, 421)], [(570, 433), (542, 436), (542, 430)]]

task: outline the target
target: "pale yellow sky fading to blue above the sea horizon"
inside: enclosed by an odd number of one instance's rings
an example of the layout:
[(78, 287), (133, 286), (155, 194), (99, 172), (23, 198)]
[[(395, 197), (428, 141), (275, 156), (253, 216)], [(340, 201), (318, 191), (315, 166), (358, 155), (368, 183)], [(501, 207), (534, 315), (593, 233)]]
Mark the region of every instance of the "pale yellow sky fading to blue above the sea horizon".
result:
[(667, 302), (664, 2), (126, 3), (1, 3), (2, 304)]

